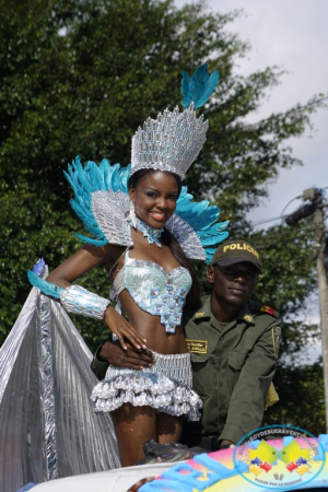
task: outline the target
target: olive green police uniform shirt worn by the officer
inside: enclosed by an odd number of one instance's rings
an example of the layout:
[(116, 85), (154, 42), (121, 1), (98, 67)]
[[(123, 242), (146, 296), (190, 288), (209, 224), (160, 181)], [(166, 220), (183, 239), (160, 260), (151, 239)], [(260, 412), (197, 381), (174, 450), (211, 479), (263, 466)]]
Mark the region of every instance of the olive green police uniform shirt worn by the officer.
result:
[(194, 389), (203, 401), (201, 421), (185, 426), (183, 442), (190, 446), (203, 436), (237, 443), (260, 426), (281, 335), (279, 315), (267, 306), (249, 302), (220, 324), (210, 301), (184, 319)]

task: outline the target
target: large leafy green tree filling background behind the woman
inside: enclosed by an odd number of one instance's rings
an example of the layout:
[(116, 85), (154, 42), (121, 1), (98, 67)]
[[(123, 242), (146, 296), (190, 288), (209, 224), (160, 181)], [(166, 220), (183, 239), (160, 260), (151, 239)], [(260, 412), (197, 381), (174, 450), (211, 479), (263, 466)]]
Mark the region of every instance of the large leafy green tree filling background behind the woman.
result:
[[(180, 71), (191, 73), (202, 62), (210, 71), (219, 68), (221, 83), (204, 108), (208, 140), (187, 184), (197, 199), (220, 204), (232, 237), (250, 236), (246, 212), (266, 197), (266, 185), (280, 168), (300, 164), (285, 142), (303, 134), (320, 101), (314, 97), (305, 106), (245, 124), (281, 71), (233, 74), (235, 59), (248, 49), (226, 31), (237, 13), (208, 12), (201, 2), (176, 9), (172, 0), (0, 0), (0, 341), (30, 290), (26, 269), (42, 255), (54, 268), (80, 247), (71, 232), (81, 226), (69, 211), (62, 178), (67, 163), (79, 154), (83, 161), (108, 157), (127, 165), (138, 126), (173, 108), (180, 101)], [(262, 245), (273, 233), (284, 234), (278, 229), (251, 241)], [(314, 285), (302, 241), (288, 245), (284, 271), (294, 270), (284, 278), (279, 300), (281, 258), (272, 263), (279, 247), (263, 250), (270, 273), (259, 294), (268, 303), (278, 301), (286, 319)], [(311, 283), (302, 286), (308, 276)], [(107, 295), (105, 273), (91, 272), (85, 282)], [(91, 348), (104, 338), (105, 327), (99, 331), (98, 324), (77, 323)], [(288, 319), (288, 340), (297, 331), (293, 323)], [(297, 348), (303, 332), (295, 339)]]

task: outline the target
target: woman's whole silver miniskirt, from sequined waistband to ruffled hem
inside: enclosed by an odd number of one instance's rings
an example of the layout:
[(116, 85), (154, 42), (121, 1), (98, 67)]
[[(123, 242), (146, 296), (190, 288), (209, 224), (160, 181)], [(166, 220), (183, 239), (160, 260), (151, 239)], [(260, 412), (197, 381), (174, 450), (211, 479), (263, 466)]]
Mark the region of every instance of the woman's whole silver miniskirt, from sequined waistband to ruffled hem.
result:
[(96, 413), (131, 403), (171, 415), (186, 415), (189, 421), (200, 419), (202, 401), (191, 389), (190, 354), (153, 354), (155, 363), (140, 371), (109, 365), (105, 379), (91, 394)]

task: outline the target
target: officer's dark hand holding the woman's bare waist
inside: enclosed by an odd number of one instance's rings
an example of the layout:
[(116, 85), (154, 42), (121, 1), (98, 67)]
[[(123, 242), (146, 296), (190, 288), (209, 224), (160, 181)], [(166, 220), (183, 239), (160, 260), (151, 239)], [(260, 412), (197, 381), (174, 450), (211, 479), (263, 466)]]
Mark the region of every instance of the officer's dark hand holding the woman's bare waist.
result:
[(118, 367), (141, 370), (151, 367), (155, 362), (153, 353), (148, 349), (136, 349), (126, 342), (127, 350), (124, 350), (118, 341), (105, 342), (98, 351), (98, 359), (109, 362)]

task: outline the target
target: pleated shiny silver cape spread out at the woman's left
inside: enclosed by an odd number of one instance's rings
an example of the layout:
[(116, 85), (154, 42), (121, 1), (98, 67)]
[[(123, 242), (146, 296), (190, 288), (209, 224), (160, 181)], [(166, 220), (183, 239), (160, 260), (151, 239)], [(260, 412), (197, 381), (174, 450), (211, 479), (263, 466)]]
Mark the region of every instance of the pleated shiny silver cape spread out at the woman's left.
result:
[(1, 492), (120, 466), (112, 420), (90, 401), (91, 360), (65, 309), (34, 288), (0, 349)]

